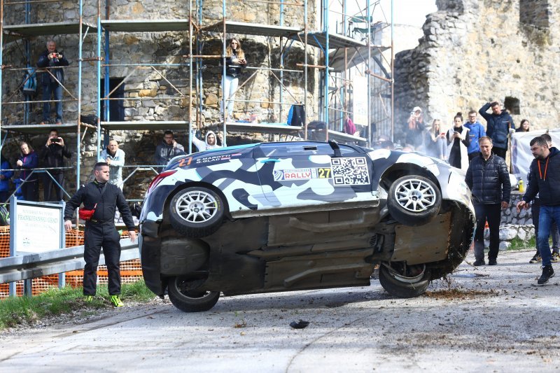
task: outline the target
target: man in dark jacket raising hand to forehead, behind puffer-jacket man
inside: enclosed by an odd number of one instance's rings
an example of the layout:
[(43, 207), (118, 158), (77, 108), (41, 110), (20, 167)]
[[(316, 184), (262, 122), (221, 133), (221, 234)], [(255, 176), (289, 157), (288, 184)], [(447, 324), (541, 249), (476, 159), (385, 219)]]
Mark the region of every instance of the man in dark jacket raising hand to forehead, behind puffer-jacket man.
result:
[[(492, 113), (486, 113), (489, 108), (492, 108)], [(486, 136), (492, 139), (492, 153), (505, 160), (505, 152), (507, 152), (507, 145), (510, 141), (510, 129), (515, 129), (512, 116), (502, 110), (498, 101), (487, 102), (478, 112), (486, 119)]]

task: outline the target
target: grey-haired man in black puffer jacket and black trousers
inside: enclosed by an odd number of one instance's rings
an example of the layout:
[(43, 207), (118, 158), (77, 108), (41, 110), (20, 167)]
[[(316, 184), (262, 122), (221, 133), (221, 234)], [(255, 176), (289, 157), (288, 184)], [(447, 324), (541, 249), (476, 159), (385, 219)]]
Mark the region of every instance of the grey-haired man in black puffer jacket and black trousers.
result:
[(480, 155), (470, 161), (465, 182), (472, 190), (477, 229), (475, 231), (475, 265), (484, 265), (484, 225), (490, 228), (490, 250), (488, 265), (498, 262), (500, 245), (500, 209), (510, 205), (510, 174), (502, 157), (492, 153), (492, 139), (482, 136), (479, 141)]

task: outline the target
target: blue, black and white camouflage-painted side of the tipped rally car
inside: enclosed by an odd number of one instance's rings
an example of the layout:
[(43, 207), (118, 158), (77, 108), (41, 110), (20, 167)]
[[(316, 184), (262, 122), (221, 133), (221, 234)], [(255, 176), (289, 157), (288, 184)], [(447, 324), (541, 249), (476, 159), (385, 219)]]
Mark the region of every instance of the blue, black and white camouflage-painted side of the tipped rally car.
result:
[(415, 153), (338, 146), (339, 157), (328, 143), (302, 141), (251, 144), (176, 157), (164, 173), (176, 172), (148, 190), (141, 221), (161, 221), (165, 201), (186, 183), (216, 186), (226, 197), (231, 218), (321, 206), (377, 206), (381, 177), (389, 167), (399, 164), (430, 171), (440, 185), (447, 185), (452, 174), (456, 184), (442, 188), (443, 198), (470, 205), (463, 176), (458, 170), (451, 171), (448, 164)]

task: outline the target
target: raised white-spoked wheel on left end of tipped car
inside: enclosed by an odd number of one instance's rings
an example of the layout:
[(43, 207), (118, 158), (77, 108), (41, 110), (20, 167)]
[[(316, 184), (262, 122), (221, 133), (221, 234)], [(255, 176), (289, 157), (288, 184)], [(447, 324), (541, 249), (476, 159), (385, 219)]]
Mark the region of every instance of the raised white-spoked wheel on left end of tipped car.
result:
[(169, 203), (169, 222), (187, 237), (205, 237), (220, 227), (224, 216), (220, 196), (204, 187), (179, 190)]

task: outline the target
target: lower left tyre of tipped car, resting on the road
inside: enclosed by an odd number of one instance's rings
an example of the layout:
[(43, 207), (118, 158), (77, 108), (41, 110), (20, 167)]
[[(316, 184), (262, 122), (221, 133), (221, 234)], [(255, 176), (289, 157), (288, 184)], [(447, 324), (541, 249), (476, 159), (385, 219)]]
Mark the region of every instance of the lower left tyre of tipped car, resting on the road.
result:
[(197, 290), (199, 283), (181, 276), (172, 277), (167, 284), (169, 300), (183, 312), (208, 311), (218, 302), (220, 292)]

